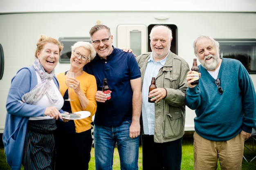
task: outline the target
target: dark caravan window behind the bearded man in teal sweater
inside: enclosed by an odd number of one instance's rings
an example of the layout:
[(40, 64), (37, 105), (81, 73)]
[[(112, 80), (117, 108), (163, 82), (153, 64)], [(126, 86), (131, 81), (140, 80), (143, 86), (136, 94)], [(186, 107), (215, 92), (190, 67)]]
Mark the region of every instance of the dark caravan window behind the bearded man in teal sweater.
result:
[(256, 74), (256, 39), (216, 39), (220, 57), (239, 60), (251, 74)]

